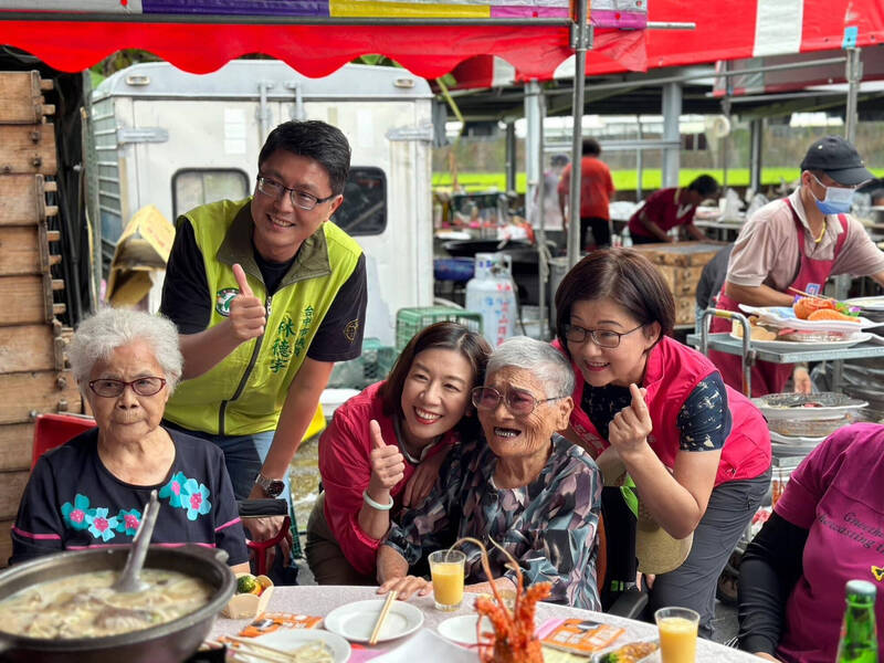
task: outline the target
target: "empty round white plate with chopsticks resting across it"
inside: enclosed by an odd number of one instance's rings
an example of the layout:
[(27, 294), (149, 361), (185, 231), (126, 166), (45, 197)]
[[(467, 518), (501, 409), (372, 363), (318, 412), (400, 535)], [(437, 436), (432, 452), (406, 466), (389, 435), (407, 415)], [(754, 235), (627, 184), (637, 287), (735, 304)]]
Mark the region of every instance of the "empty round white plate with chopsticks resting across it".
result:
[[(368, 642), (382, 607), (383, 599), (370, 599), (335, 608), (326, 615), (325, 628), (352, 642)], [(411, 603), (393, 601), (380, 629), (378, 642), (413, 633), (422, 623), (423, 612)]]

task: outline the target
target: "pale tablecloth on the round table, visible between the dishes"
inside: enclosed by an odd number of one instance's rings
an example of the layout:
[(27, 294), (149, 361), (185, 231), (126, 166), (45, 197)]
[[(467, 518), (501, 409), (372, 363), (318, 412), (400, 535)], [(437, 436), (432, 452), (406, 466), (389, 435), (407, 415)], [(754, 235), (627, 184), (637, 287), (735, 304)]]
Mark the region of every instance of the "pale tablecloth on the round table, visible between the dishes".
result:
[[(350, 603), (352, 601), (361, 601), (366, 599), (377, 599), (376, 589), (373, 587), (334, 587), (334, 586), (304, 586), (304, 587), (276, 587), (274, 588), (273, 596), (271, 597), (267, 606), (267, 612), (293, 612), (309, 614), (316, 617), (325, 617), (338, 606)], [(423, 628), (435, 630), (440, 622), (453, 617), (455, 614), (469, 614), (473, 611), (470, 594), (464, 597), (464, 602), (457, 612), (440, 612), (433, 608), (432, 594), (423, 598), (412, 598), (411, 603), (421, 609), (424, 615)], [(645, 622), (640, 622), (622, 617), (614, 617), (612, 614), (602, 614), (600, 612), (590, 612), (588, 610), (578, 610), (576, 608), (567, 608), (564, 606), (552, 606), (550, 603), (538, 603), (537, 606), (537, 625), (539, 627), (545, 621), (551, 618), (565, 617), (580, 617), (583, 619), (592, 619), (596, 621), (603, 621), (606, 623), (617, 624), (627, 629), (627, 633), (622, 635), (618, 643), (631, 642), (642, 638), (649, 638), (656, 634), (656, 627)], [(235, 635), (240, 630), (249, 623), (249, 620), (233, 620), (224, 617), (219, 617), (212, 629), (212, 638), (219, 635)], [(414, 635), (411, 635), (413, 638)], [(379, 644), (375, 649), (377, 651), (390, 651), (399, 646), (402, 640), (396, 640)], [(432, 653), (428, 652), (428, 657), (421, 663), (433, 663), (435, 659)], [(478, 657), (476, 656), (476, 661)], [(697, 642), (697, 661), (702, 663), (758, 663), (759, 659), (739, 652), (734, 649), (716, 644), (708, 640), (699, 640)], [(442, 662), (440, 662), (442, 663)]]

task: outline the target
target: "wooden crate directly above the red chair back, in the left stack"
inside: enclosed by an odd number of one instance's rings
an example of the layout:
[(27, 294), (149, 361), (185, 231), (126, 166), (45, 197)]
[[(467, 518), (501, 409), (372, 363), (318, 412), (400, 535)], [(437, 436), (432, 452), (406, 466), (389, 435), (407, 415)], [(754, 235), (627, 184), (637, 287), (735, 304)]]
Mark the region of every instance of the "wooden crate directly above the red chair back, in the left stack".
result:
[(0, 375), (0, 424), (28, 423), (39, 412), (82, 412), (80, 390), (70, 371), (34, 371)]

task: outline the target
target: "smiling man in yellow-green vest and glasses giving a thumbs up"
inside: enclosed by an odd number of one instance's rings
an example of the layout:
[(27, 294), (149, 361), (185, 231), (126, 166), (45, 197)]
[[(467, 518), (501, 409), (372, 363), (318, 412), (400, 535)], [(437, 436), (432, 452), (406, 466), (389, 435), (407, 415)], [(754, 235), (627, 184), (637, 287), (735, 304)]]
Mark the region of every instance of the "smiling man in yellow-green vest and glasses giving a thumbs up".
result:
[[(329, 221), (349, 167), (339, 129), (287, 122), (261, 149), (251, 198), (177, 221), (160, 311), (178, 326), (185, 372), (166, 422), (223, 450), (238, 499), (291, 505), (288, 464), (332, 368), (361, 351), (365, 255)], [(252, 538), (278, 525), (250, 523)]]

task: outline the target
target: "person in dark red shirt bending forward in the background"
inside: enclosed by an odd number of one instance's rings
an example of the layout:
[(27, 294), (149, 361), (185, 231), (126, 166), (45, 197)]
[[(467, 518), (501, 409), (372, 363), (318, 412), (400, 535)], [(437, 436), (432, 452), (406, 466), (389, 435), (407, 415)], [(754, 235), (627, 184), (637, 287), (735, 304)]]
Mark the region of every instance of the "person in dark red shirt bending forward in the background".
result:
[(633, 244), (673, 242), (667, 232), (684, 225), (692, 240), (708, 241), (708, 238), (694, 225), (694, 212), (707, 198), (718, 193), (718, 182), (711, 175), (701, 175), (687, 189), (660, 189), (648, 197), (644, 204), (629, 220), (629, 233)]

